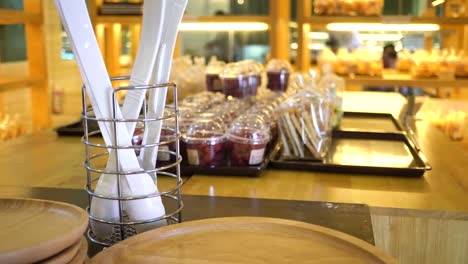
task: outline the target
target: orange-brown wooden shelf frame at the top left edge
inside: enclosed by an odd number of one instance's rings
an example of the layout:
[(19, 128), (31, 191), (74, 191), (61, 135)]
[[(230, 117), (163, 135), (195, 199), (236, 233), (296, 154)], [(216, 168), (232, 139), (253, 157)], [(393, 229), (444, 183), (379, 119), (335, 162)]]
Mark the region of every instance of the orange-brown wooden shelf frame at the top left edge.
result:
[(47, 82), (42, 0), (24, 1), (24, 10), (0, 9), (0, 25), (25, 24), (29, 76), (0, 75), (0, 92), (31, 89), (33, 130), (51, 125), (50, 96)]

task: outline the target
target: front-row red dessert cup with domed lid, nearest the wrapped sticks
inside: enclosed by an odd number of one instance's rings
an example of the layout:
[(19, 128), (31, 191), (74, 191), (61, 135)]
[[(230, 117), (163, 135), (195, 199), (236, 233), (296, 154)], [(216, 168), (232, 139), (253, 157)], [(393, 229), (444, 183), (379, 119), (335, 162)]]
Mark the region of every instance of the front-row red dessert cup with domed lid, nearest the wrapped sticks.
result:
[(239, 117), (232, 123), (227, 134), (231, 166), (261, 164), (269, 141), (269, 128), (261, 118), (253, 115)]

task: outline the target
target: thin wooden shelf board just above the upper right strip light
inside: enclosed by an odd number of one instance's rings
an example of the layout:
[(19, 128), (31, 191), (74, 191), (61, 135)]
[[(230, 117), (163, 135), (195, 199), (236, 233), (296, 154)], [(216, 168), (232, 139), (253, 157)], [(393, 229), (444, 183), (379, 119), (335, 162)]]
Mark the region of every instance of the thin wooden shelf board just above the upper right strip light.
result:
[(431, 23), (439, 25), (468, 24), (466, 17), (415, 17), (415, 16), (318, 16), (305, 18), (306, 23), (326, 25), (329, 23)]

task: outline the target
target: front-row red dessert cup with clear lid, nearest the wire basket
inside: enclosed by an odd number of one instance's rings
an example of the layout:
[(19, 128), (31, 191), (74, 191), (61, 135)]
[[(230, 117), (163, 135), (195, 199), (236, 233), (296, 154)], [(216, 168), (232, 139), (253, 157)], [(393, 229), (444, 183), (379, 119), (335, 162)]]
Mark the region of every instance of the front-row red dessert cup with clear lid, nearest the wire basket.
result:
[(226, 133), (224, 124), (209, 119), (198, 119), (182, 138), (187, 162), (195, 166), (217, 166), (225, 161)]

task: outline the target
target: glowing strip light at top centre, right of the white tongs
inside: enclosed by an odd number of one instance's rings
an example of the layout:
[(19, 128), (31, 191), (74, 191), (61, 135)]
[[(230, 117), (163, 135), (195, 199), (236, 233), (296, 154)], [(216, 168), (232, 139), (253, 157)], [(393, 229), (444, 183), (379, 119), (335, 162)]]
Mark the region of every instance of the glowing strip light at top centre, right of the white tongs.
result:
[(268, 24), (261, 22), (182, 22), (180, 31), (266, 31)]

